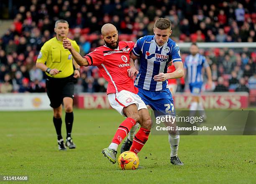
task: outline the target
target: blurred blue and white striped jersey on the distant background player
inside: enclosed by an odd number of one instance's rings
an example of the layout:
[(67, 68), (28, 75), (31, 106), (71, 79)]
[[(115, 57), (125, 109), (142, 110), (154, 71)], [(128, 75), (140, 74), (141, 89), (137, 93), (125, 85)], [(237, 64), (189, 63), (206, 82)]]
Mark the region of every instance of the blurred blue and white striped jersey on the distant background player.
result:
[(195, 56), (189, 55), (184, 62), (184, 69), (187, 69), (187, 79), (190, 85), (203, 83), (202, 68), (209, 64), (203, 55), (197, 53)]

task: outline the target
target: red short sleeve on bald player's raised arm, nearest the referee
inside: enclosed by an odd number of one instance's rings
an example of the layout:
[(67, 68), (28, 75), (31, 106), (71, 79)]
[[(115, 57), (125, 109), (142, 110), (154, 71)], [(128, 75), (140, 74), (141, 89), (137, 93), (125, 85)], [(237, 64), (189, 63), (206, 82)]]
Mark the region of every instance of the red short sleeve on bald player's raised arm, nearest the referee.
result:
[(104, 61), (103, 52), (99, 48), (85, 55), (84, 58), (87, 59), (90, 66), (101, 65)]

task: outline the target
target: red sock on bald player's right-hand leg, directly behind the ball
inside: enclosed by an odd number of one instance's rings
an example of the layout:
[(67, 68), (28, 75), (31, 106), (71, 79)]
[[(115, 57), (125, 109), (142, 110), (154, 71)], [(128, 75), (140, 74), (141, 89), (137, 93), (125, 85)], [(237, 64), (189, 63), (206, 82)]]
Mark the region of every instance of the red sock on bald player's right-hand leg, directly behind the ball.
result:
[(140, 128), (139, 131), (135, 134), (130, 151), (138, 154), (138, 152), (141, 151), (142, 147), (147, 142), (149, 133), (150, 130)]

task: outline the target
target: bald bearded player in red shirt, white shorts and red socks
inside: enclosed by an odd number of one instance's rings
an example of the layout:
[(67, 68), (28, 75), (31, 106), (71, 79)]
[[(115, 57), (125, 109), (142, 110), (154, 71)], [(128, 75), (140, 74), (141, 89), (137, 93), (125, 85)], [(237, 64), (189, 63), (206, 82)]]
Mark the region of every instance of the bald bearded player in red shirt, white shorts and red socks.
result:
[(151, 118), (146, 104), (137, 95), (138, 90), (133, 80), (128, 77), (130, 69), (130, 52), (133, 42), (118, 41), (118, 31), (112, 24), (105, 24), (101, 29), (101, 38), (105, 45), (97, 47), (94, 51), (82, 57), (67, 39), (63, 40), (63, 47), (72, 54), (80, 66), (97, 66), (100, 73), (108, 81), (108, 100), (111, 107), (127, 117), (118, 127), (109, 147), (102, 150), (102, 154), (113, 164), (116, 162), (118, 145), (128, 135), (129, 131), (136, 131), (136, 122), (141, 128), (135, 134), (130, 151), (136, 154), (148, 140), (151, 129)]

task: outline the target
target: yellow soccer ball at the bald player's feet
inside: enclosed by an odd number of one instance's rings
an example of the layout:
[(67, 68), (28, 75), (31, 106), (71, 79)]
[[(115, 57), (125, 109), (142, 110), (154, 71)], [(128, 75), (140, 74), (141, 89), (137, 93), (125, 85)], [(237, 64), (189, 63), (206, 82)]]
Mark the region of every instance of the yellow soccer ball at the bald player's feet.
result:
[(123, 152), (118, 157), (118, 167), (122, 170), (128, 170), (128, 169), (137, 169), (139, 164), (139, 159), (137, 154), (134, 152)]

